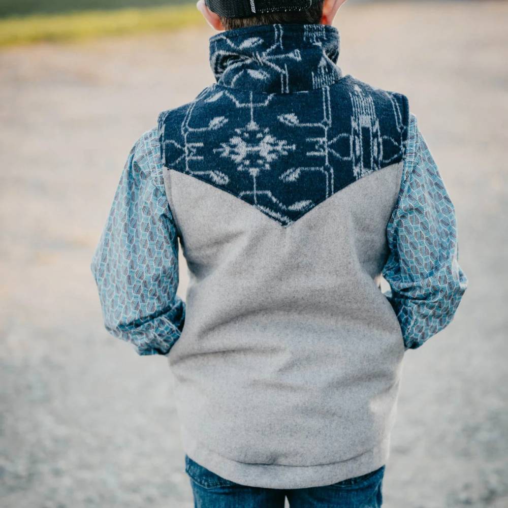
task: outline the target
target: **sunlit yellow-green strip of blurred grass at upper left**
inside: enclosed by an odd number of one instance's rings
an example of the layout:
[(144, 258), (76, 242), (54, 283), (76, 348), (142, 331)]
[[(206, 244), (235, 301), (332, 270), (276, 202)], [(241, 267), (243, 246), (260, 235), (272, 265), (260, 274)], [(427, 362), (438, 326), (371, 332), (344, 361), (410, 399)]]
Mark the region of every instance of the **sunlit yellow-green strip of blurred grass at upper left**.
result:
[[(81, 3), (86, 2), (82, 0)], [(83, 10), (65, 14), (9, 16), (0, 18), (0, 47), (171, 30), (195, 24), (200, 19), (201, 14), (194, 3), (142, 9)]]

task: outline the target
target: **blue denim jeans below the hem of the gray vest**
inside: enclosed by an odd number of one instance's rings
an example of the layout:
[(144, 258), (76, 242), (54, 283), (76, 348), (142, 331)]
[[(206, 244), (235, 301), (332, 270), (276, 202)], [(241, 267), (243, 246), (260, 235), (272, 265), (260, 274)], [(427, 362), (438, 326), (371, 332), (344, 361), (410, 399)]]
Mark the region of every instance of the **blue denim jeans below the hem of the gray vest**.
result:
[(213, 473), (185, 455), (195, 508), (379, 508), (385, 466), (356, 478), (305, 489), (246, 487)]

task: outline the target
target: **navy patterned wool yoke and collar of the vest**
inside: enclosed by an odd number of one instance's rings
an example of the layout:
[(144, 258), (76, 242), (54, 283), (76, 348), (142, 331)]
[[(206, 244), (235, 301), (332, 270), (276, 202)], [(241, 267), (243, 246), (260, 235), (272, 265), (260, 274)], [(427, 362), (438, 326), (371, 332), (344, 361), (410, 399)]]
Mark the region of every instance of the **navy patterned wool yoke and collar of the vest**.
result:
[(212, 37), (217, 83), (159, 117), (165, 166), (287, 227), (345, 186), (402, 161), (407, 99), (342, 77), (338, 45), (328, 25), (264, 25)]

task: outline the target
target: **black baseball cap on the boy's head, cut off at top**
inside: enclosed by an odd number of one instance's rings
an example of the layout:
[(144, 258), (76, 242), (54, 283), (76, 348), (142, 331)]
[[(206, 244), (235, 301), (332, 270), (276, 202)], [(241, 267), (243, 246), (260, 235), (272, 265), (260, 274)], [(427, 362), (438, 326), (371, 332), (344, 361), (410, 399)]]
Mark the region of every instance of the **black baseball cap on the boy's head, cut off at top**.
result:
[(248, 18), (270, 12), (306, 11), (317, 0), (205, 0), (210, 11), (225, 18)]

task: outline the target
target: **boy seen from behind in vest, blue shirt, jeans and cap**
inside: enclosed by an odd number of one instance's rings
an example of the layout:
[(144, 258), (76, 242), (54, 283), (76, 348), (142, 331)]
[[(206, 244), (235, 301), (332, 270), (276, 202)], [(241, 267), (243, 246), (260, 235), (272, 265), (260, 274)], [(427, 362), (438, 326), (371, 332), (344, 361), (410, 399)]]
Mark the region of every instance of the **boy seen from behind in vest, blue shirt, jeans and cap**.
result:
[(135, 144), (92, 260), (168, 358), (196, 506), (380, 506), (404, 352), (466, 289), (407, 98), (336, 65), (343, 1), (200, 0), (216, 83)]

